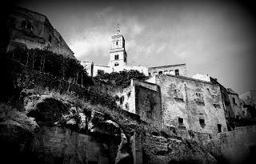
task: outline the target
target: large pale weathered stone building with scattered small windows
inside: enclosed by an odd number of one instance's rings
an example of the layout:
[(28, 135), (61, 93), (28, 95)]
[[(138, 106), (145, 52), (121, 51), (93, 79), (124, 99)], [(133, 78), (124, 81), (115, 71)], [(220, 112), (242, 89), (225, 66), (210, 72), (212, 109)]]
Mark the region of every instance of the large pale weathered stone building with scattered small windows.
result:
[(163, 126), (208, 134), (227, 130), (219, 85), (169, 74), (153, 79), (161, 90)]

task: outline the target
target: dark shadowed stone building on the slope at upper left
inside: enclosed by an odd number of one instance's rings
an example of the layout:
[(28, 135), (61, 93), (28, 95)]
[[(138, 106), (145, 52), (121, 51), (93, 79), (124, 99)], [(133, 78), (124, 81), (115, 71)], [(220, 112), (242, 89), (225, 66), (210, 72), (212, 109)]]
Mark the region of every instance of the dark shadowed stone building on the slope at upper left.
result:
[(68, 58), (75, 58), (62, 35), (50, 24), (45, 15), (15, 7), (7, 20), (9, 43), (7, 51), (15, 47), (50, 50)]

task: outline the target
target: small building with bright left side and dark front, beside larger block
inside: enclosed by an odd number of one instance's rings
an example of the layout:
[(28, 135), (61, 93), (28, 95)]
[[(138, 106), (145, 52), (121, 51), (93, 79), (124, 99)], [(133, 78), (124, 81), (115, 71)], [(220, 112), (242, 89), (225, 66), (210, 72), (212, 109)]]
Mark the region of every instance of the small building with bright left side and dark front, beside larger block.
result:
[(131, 80), (130, 86), (118, 95), (123, 110), (138, 114), (150, 126), (162, 128), (162, 102), (160, 87), (150, 82)]

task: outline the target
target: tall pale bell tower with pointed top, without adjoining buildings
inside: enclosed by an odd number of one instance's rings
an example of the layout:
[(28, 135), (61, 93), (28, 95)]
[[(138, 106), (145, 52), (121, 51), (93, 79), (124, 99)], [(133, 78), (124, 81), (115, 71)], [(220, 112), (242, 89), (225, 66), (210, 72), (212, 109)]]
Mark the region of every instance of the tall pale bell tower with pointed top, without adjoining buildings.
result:
[(110, 62), (108, 66), (112, 68), (127, 66), (125, 39), (120, 34), (119, 25), (116, 34), (111, 36)]

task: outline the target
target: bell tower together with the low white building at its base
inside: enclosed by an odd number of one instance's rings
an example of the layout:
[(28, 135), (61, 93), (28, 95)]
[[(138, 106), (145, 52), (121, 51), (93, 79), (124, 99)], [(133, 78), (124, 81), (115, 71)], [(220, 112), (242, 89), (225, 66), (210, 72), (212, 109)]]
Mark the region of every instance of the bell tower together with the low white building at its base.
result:
[(81, 64), (90, 76), (97, 76), (97, 74), (100, 73), (110, 74), (111, 72), (119, 72), (122, 70), (138, 70), (146, 76), (148, 75), (147, 66), (127, 65), (126, 42), (119, 29), (116, 34), (111, 36), (110, 62), (108, 66), (94, 64), (94, 62), (89, 61), (82, 61)]

